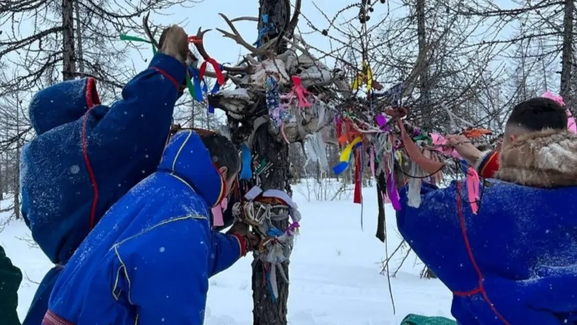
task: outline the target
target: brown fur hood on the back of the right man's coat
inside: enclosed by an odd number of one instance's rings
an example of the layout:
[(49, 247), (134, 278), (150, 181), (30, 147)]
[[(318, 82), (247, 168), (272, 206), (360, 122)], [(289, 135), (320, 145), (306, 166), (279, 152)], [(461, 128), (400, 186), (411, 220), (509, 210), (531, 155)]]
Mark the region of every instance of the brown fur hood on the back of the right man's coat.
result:
[(501, 148), (495, 178), (531, 187), (577, 186), (577, 135), (546, 129)]

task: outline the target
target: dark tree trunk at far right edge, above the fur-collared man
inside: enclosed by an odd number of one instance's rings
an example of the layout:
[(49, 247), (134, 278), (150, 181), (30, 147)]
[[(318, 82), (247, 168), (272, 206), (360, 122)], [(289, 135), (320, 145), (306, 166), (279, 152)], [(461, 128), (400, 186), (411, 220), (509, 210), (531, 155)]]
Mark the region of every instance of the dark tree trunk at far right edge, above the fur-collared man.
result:
[(571, 92), (571, 74), (573, 71), (573, 46), (574, 46), (574, 14), (575, 1), (565, 1), (565, 14), (563, 16), (563, 52), (561, 54), (561, 89), (560, 94), (565, 100), (567, 107), (573, 107), (573, 94)]

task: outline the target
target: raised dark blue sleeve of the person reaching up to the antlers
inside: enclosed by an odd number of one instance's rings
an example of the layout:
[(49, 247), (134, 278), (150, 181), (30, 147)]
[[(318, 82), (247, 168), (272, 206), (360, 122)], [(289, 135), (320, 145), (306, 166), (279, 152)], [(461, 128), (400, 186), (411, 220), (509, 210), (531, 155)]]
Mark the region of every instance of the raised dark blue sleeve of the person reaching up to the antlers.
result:
[(118, 159), (132, 158), (143, 147), (162, 149), (185, 76), (186, 69), (177, 59), (155, 54), (148, 69), (124, 86), (122, 99), (107, 110), (91, 109), (93, 118), (86, 127), (88, 152), (98, 147), (114, 151), (110, 163), (116, 165)]

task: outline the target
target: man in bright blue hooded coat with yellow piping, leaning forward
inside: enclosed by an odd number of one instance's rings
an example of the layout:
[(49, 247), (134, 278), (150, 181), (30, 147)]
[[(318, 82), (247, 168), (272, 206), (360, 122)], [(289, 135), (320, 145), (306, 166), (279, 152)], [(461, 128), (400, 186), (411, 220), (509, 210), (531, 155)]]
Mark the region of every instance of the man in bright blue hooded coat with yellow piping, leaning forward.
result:
[(210, 209), (240, 169), (221, 135), (178, 132), (158, 170), (123, 196), (56, 282), (43, 325), (200, 325), (208, 278), (258, 244), (211, 229)]

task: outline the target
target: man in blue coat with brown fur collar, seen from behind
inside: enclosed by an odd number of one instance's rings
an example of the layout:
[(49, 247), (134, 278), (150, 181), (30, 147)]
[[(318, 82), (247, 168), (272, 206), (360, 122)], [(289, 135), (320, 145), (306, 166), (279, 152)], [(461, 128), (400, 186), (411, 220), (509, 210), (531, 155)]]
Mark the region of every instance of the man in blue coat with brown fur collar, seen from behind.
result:
[[(577, 324), (577, 136), (547, 98), (516, 105), (473, 213), (466, 182), (400, 193), (398, 229), (453, 292), (463, 325)], [(399, 176), (399, 178), (402, 176)]]

